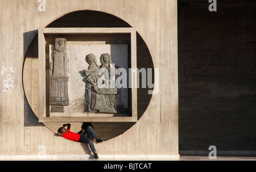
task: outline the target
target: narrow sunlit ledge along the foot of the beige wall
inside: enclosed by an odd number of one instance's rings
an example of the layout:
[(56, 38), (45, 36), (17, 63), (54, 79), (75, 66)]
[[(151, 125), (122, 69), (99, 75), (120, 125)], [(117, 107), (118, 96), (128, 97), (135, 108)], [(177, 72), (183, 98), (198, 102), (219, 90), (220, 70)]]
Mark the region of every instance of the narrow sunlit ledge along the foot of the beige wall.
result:
[[(123, 154), (99, 154), (100, 160), (160, 160), (160, 159), (177, 159), (179, 160), (179, 154), (133, 154), (133, 155), (123, 155)], [(0, 156), (0, 160), (81, 160), (81, 159), (93, 159), (92, 154), (85, 155), (8, 155)]]

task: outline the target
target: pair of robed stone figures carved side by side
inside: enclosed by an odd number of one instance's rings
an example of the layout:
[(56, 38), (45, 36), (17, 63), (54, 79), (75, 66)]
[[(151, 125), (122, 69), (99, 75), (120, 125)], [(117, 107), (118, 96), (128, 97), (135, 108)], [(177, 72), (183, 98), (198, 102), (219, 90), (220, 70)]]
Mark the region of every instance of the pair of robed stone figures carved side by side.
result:
[(112, 65), (110, 54), (102, 54), (100, 66), (97, 65), (94, 54), (88, 54), (85, 61), (89, 64), (88, 70), (85, 70), (85, 111), (117, 113), (116, 69)]

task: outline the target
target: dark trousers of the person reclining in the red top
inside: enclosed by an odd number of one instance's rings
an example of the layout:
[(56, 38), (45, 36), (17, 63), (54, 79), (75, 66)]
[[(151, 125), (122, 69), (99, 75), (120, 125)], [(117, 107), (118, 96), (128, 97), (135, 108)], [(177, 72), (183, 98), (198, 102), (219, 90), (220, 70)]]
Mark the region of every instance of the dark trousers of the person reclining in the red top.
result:
[(88, 126), (88, 127), (86, 127), (84, 133), (81, 134), (79, 142), (88, 143), (90, 146), (90, 150), (92, 150), (92, 152), (96, 152), (93, 141), (89, 138), (89, 134), (91, 134), (94, 138), (98, 137), (98, 135), (94, 131), (94, 129), (92, 127)]

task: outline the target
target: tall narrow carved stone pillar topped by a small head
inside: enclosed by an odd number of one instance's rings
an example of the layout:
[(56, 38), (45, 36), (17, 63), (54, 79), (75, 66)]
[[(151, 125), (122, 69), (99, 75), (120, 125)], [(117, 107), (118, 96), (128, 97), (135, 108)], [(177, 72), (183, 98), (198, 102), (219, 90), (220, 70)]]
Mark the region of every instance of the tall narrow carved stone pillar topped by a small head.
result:
[(68, 57), (66, 39), (55, 39), (51, 72), (51, 112), (64, 112), (68, 106)]

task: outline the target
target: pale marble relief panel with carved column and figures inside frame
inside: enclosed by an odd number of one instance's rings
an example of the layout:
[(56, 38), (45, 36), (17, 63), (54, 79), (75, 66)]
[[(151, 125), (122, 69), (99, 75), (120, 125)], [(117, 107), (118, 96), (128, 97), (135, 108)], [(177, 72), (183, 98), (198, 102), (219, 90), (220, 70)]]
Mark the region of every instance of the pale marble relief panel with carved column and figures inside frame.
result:
[(117, 69), (128, 70), (126, 44), (66, 44), (56, 39), (49, 56), (50, 116), (129, 113), (128, 89), (115, 86)]

